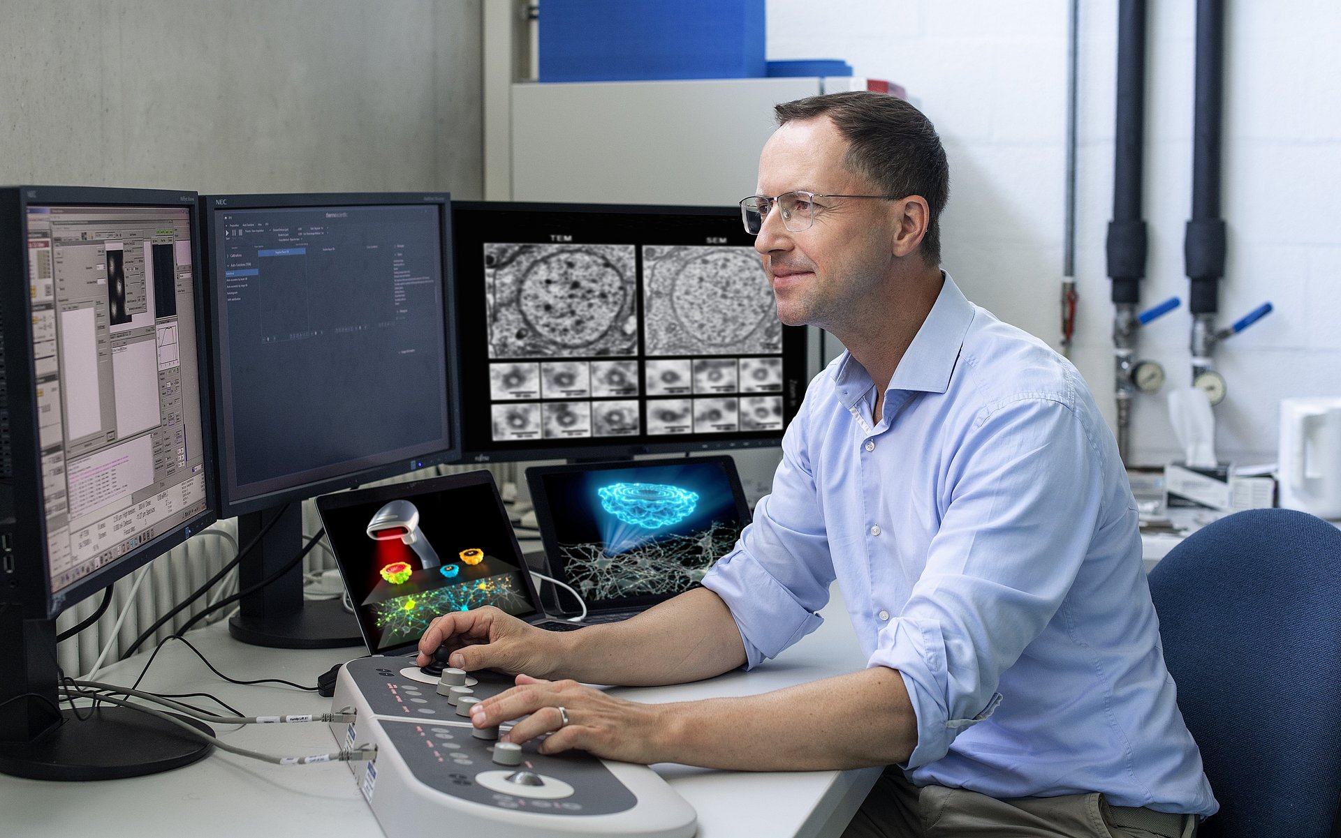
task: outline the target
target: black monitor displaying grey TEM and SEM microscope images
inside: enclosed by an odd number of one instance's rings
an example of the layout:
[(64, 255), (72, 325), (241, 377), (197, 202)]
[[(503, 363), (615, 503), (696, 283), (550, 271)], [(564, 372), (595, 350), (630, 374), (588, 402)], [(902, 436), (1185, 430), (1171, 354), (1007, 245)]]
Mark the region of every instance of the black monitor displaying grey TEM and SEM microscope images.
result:
[(463, 459), (774, 446), (806, 388), (738, 207), (457, 202)]

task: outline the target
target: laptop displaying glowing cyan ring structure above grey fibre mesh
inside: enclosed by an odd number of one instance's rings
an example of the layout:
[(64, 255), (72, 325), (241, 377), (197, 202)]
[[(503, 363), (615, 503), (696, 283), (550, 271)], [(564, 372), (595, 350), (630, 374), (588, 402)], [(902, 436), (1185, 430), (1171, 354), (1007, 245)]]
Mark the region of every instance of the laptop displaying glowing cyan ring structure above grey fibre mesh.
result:
[[(625, 620), (697, 588), (750, 523), (731, 456), (526, 470), (550, 576), (586, 601), (583, 622)], [(551, 613), (581, 605), (557, 594)]]

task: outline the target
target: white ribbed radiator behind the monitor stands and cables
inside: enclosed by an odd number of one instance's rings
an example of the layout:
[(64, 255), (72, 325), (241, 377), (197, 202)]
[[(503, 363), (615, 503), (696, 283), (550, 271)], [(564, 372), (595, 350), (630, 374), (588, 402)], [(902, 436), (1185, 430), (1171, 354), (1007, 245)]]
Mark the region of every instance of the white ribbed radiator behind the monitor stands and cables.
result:
[[(402, 483), (440, 474), (475, 471), (477, 469), (479, 466), (436, 466), (433, 469), (412, 471), (410, 474), (377, 483), (369, 483), (369, 486)], [(493, 479), (499, 486), (512, 483), (520, 489), (522, 482), (519, 481), (519, 477), (522, 474), (522, 469), (519, 463), (491, 465), (488, 466), (488, 470), (493, 473)], [(304, 501), (303, 534), (307, 537), (314, 535), (318, 530), (320, 530), (320, 527), (322, 522), (320, 517), (316, 514), (315, 502)], [(229, 518), (227, 521), (220, 521), (209, 527), (209, 530), (227, 533), (236, 539), (237, 519)], [(172, 610), (174, 605), (190, 596), (190, 593), (204, 585), (209, 577), (219, 573), (224, 565), (232, 561), (232, 543), (229, 543), (225, 538), (211, 534), (209, 530), (197, 533), (181, 546), (149, 562), (113, 586), (111, 605), (107, 608), (106, 613), (98, 618), (98, 622), (58, 645), (56, 657), (60, 668), (67, 676), (78, 677), (89, 673), (93, 669), (94, 663), (98, 660), (98, 656), (102, 653), (103, 647), (109, 643), (111, 643), (111, 648), (107, 651), (102, 665), (118, 660), (122, 649), (129, 648), (141, 632), (153, 625), (160, 617)], [(330, 545), (326, 542), (326, 538), (322, 538), (319, 545), (307, 553), (303, 558), (304, 573), (319, 573), (335, 566), (335, 561), (329, 552), (329, 546)], [(139, 585), (134, 601), (130, 601), (130, 592), (135, 585), (135, 580), (142, 573), (148, 574), (148, 578), (145, 578), (145, 581)], [(216, 592), (220, 592), (220, 589), (224, 588), (227, 588), (227, 590), (216, 596)], [(236, 570), (229, 574), (229, 578), (220, 581), (209, 594), (196, 600), (190, 608), (184, 609), (180, 614), (160, 628), (154, 635), (153, 641), (145, 641), (139, 647), (141, 651), (152, 651), (160, 640), (174, 633), (188, 620), (205, 609), (207, 602), (216, 601), (217, 598), (233, 592), (236, 592)], [(93, 614), (94, 610), (97, 610), (98, 604), (102, 602), (102, 596), (103, 593), (99, 590), (94, 596), (76, 604), (74, 608), (66, 609), (66, 612), (56, 618), (56, 631), (66, 631)], [(205, 622), (223, 620), (231, 614), (235, 608), (236, 604), (221, 608), (216, 613), (207, 617)], [(113, 629), (123, 612), (125, 618), (122, 620), (121, 629), (117, 631), (115, 637), (113, 637)], [(200, 625), (200, 622), (196, 624), (197, 628)]]

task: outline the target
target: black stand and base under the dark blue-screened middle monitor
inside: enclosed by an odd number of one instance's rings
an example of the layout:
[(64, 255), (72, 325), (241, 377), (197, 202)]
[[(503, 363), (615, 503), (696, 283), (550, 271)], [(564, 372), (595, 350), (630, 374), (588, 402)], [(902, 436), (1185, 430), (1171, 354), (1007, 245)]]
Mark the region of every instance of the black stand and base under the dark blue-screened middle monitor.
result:
[[(260, 543), (237, 569), (239, 590), (259, 584), (303, 549), (303, 506), (264, 509), (237, 517), (237, 542), (249, 543), (276, 515)], [(331, 649), (363, 644), (354, 614), (341, 600), (303, 600), (303, 564), (240, 601), (241, 609), (228, 621), (228, 633), (256, 647), (279, 649)]]

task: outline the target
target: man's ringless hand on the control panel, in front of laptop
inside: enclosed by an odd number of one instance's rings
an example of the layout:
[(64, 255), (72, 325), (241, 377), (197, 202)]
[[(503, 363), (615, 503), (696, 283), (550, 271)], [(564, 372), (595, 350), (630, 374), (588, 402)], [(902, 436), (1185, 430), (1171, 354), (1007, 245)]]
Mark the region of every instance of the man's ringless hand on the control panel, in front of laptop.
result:
[(433, 652), (447, 647), (448, 665), (473, 672), (498, 669), (508, 675), (544, 676), (554, 669), (554, 635), (534, 628), (507, 612), (487, 605), (475, 610), (443, 614), (420, 637), (418, 665), (433, 661)]

